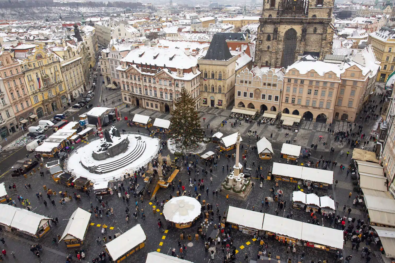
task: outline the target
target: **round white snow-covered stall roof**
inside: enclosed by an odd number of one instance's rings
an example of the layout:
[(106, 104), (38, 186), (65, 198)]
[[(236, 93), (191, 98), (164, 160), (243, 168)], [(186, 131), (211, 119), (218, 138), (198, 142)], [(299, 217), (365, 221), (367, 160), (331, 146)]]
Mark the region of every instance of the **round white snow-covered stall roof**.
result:
[(201, 204), (189, 196), (171, 198), (163, 207), (166, 220), (184, 224), (193, 222), (201, 213)]

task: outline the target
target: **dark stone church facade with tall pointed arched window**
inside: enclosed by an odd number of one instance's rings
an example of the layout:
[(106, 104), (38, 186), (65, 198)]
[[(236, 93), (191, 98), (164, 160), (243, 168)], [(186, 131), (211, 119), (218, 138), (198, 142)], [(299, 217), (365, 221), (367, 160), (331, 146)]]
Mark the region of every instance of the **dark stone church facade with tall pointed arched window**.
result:
[(287, 67), (311, 54), (331, 53), (333, 0), (264, 0), (255, 64)]

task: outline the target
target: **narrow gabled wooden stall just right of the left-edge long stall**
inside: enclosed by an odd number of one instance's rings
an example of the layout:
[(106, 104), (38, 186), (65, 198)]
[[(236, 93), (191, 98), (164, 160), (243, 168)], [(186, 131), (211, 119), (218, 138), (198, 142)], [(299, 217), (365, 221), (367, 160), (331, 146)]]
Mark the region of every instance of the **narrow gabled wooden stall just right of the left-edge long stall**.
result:
[(85, 235), (88, 231), (91, 215), (92, 214), (88, 211), (78, 207), (70, 216), (69, 222), (67, 223), (66, 229), (64, 229), (59, 242), (64, 241), (67, 248), (82, 246)]

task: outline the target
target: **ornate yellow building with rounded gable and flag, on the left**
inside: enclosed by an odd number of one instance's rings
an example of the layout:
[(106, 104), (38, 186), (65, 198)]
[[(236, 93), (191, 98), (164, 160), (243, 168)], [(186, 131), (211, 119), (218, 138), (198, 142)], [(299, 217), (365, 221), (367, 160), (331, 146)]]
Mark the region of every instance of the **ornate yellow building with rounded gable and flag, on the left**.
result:
[(14, 56), (23, 61), (25, 83), (38, 118), (67, 106), (60, 60), (56, 54), (45, 47), (36, 46), (28, 52), (15, 49)]

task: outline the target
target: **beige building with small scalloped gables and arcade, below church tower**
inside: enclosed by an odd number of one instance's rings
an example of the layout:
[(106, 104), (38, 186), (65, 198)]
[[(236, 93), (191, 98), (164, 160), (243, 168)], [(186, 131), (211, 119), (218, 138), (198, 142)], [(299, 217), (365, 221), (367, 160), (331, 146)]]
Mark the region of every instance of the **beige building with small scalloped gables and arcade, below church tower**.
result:
[(257, 112), (277, 114), (281, 109), (284, 73), (269, 67), (244, 69), (236, 76), (235, 108), (250, 108)]

